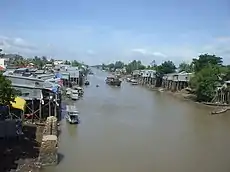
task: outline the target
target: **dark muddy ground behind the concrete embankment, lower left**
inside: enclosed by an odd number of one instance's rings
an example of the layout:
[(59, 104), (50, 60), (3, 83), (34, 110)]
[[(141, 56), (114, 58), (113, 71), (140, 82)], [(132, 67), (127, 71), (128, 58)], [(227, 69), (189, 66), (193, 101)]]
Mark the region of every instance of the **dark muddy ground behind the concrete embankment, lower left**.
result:
[(26, 125), (24, 135), (15, 139), (0, 140), (0, 171), (29, 172), (39, 168), (37, 158), (43, 126)]

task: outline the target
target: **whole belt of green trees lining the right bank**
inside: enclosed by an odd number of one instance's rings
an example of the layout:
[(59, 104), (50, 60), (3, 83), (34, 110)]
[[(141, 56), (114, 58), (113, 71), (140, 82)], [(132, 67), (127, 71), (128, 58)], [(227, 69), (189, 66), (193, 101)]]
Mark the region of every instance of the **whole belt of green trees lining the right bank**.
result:
[[(230, 80), (230, 65), (223, 64), (223, 59), (216, 55), (201, 54), (197, 58), (193, 58), (191, 63), (182, 62), (178, 67), (173, 61), (164, 61), (160, 65), (152, 64), (145, 66), (141, 61), (133, 60), (125, 64), (116, 61), (111, 64), (100, 65), (103, 70), (114, 72), (116, 69), (123, 69), (124, 74), (132, 74), (134, 70), (155, 70), (156, 74), (162, 77), (165, 74), (175, 72), (193, 73), (193, 77), (189, 81), (189, 87), (195, 94), (197, 101), (210, 102), (216, 94), (219, 86), (225, 81)], [(230, 88), (226, 88), (229, 89)]]

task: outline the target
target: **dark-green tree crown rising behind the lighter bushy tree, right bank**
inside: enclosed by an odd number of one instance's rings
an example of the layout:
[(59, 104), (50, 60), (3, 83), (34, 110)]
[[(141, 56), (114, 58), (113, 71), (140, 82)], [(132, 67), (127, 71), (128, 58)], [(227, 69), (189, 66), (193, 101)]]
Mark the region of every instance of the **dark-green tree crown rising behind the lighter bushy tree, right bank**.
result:
[(201, 54), (198, 59), (193, 59), (194, 72), (199, 72), (209, 64), (221, 66), (223, 63), (221, 57), (216, 55)]

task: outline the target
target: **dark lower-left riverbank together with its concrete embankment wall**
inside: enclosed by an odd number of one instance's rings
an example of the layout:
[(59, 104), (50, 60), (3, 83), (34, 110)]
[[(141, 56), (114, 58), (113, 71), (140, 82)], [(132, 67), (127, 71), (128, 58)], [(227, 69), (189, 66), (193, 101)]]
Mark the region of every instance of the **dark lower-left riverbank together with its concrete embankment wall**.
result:
[(22, 131), (17, 138), (0, 140), (0, 171), (38, 172), (42, 166), (58, 163), (56, 117), (43, 124), (25, 124)]

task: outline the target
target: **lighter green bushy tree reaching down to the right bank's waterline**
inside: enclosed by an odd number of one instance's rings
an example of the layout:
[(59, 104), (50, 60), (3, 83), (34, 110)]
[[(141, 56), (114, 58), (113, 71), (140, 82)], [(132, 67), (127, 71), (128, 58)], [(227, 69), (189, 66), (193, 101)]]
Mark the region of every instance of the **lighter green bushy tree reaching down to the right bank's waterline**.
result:
[(221, 68), (218, 65), (208, 64), (191, 79), (191, 86), (195, 89), (198, 101), (209, 102), (215, 96), (220, 81)]

